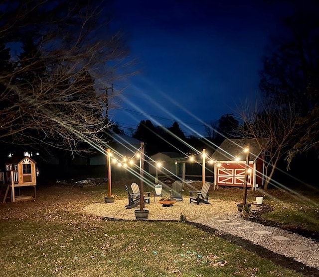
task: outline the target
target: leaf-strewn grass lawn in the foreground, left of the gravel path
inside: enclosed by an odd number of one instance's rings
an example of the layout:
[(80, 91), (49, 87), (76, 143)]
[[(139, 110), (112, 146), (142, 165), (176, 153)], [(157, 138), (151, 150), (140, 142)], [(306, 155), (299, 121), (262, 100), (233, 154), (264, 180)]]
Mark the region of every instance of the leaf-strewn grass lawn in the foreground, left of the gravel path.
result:
[[(120, 198), (122, 186), (114, 185)], [(105, 194), (105, 186), (38, 186), (35, 201), (1, 204), (1, 276), (303, 276), (183, 222), (83, 213)]]

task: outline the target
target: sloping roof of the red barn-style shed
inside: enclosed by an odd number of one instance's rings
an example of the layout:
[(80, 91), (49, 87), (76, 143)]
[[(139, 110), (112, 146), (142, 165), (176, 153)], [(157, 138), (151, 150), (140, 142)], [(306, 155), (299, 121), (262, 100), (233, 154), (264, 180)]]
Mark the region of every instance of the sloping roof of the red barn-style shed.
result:
[(236, 157), (239, 161), (246, 160), (244, 152), (247, 144), (250, 144), (250, 160), (255, 160), (261, 153), (261, 149), (256, 139), (225, 139), (219, 148), (211, 155), (215, 161), (234, 161)]

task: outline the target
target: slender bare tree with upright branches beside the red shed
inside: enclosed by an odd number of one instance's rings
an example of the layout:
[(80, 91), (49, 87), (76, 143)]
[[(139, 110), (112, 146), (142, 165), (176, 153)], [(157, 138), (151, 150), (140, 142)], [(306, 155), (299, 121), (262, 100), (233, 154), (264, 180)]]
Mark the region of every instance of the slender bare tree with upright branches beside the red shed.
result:
[(239, 112), (243, 125), (239, 136), (255, 139), (264, 160), (264, 189), (267, 190), (280, 158), (287, 154), (297, 131), (298, 113), (294, 104), (283, 100), (265, 102), (259, 110), (246, 105)]

